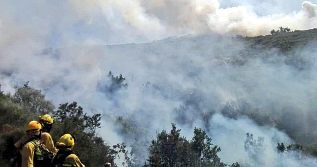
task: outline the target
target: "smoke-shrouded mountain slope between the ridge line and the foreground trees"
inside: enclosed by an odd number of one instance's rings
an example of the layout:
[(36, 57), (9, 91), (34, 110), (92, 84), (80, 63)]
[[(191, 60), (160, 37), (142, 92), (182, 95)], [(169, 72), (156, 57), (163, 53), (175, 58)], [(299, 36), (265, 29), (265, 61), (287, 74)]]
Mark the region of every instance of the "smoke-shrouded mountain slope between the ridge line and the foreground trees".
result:
[[(278, 142), (316, 141), (313, 34), (314, 29), (257, 37), (201, 34), (51, 48), (3, 67), (1, 85), (8, 91), (29, 80), (55, 106), (77, 101), (85, 111), (101, 113), (99, 134), (110, 145), (137, 139), (143, 158), (143, 142), (176, 123), (187, 138), (194, 127), (205, 129), (222, 147), (225, 163), (240, 162), (248, 159), (247, 132), (265, 138), (262, 157), (275, 154)], [(289, 47), (282, 50), (285, 39)], [(127, 87), (109, 92), (109, 71), (122, 74)]]

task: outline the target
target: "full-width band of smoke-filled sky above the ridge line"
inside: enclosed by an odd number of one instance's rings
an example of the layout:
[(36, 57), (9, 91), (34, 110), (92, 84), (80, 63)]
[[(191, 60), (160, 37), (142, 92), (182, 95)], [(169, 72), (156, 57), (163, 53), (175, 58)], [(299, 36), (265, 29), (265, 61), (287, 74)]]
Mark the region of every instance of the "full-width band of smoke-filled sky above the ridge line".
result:
[(27, 39), (65, 47), (145, 42), (189, 33), (266, 35), (280, 26), (311, 29), (317, 24), (314, 1), (4, 0), (1, 7), (1, 47)]

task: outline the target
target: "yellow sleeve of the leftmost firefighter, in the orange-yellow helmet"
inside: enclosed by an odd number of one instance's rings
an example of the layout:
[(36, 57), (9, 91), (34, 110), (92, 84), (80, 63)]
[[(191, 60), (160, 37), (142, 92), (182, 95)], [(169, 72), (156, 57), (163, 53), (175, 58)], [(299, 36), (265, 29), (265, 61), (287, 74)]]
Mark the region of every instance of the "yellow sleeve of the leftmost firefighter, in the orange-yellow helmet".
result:
[(21, 156), (22, 156), (21, 167), (33, 167), (34, 149), (35, 147), (32, 143), (27, 143), (23, 146), (21, 151)]

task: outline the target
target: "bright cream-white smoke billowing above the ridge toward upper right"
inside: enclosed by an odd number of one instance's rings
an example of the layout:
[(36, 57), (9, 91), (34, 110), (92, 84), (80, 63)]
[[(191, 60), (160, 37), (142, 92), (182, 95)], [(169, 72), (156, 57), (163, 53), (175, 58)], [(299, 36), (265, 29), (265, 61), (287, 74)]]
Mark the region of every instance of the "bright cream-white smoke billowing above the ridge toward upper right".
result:
[[(252, 2), (250, 2), (252, 4)], [(290, 2), (291, 3), (291, 2)], [(123, 27), (135, 29), (148, 39), (161, 36), (183, 35), (188, 33), (233, 33), (240, 35), (266, 35), (272, 29), (288, 26), (292, 29), (311, 29), (316, 27), (316, 5), (309, 1), (302, 3), (302, 9), (283, 13), (282, 7), (277, 13), (258, 15), (254, 6), (244, 2), (244, 6), (222, 8), (217, 0), (134, 0), (125, 1), (74, 1), (76, 12), (85, 13), (90, 19), (92, 11), (101, 10), (107, 17), (111, 11)], [(88, 8), (83, 7), (88, 6)], [(277, 5), (278, 6), (278, 5)], [(261, 9), (277, 8), (272, 4), (263, 4)], [(90, 14), (90, 15), (88, 15)], [(113, 21), (113, 20), (112, 20)], [(125, 24), (126, 23), (126, 24)], [(114, 24), (116, 25), (116, 24)], [(119, 30), (119, 29), (116, 29)], [(124, 32), (130, 36), (130, 32)]]

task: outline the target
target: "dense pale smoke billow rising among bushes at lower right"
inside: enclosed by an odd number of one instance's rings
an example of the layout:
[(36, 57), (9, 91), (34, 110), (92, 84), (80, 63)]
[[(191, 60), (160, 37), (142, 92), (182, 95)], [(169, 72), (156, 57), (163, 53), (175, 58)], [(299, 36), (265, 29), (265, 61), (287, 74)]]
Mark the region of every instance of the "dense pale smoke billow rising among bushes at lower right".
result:
[[(288, 138), (284, 132), (277, 131), (269, 126), (259, 127), (249, 119), (228, 119), (223, 115), (215, 114), (210, 120), (213, 142), (221, 147), (219, 157), (224, 162), (239, 162), (242, 166), (314, 166), (317, 163), (316, 158), (310, 158), (300, 155), (298, 152), (278, 153), (277, 142), (284, 141), (284, 144), (290, 144), (293, 141)], [(243, 142), (246, 140), (246, 133), (257, 137), (263, 137), (264, 151), (259, 153), (261, 162), (252, 161), (244, 148)], [(262, 164), (261, 164), (262, 163)]]

